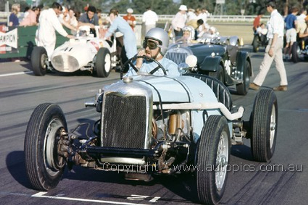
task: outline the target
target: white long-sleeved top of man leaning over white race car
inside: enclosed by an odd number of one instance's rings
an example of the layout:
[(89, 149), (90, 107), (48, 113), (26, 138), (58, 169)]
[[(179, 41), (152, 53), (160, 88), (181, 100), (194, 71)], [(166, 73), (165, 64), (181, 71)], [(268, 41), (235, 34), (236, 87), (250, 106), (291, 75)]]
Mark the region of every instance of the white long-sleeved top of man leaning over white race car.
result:
[(55, 10), (52, 8), (43, 10), (39, 16), (39, 26), (36, 33), (36, 38), (39, 42), (55, 43), (56, 33), (67, 36), (67, 32), (63, 29)]

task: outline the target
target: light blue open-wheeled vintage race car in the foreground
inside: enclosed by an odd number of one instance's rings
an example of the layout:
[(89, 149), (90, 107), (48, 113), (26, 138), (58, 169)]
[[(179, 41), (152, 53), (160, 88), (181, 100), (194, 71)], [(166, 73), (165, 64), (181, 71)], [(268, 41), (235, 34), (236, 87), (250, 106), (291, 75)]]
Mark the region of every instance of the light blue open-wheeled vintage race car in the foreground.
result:
[(248, 122), (242, 120), (244, 108), (233, 107), (225, 85), (200, 74), (124, 77), (100, 89), (86, 106), (101, 113), (90, 138), (69, 132), (56, 104), (33, 111), (24, 151), (34, 189), (56, 187), (64, 167), (73, 164), (144, 181), (189, 172), (199, 201), (217, 204), (226, 186), (231, 145), (250, 138), (253, 156), (262, 162), (275, 150), (277, 98), (268, 89), (257, 94)]

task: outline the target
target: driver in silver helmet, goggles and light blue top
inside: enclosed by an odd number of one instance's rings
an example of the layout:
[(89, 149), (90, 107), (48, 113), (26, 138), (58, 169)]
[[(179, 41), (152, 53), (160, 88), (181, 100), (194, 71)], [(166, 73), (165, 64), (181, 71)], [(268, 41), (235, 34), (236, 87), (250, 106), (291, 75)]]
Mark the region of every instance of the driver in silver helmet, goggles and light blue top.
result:
[[(168, 76), (179, 76), (178, 66), (175, 62), (164, 58), (169, 45), (168, 33), (161, 28), (152, 28), (145, 35), (143, 41), (143, 48), (139, 51), (137, 56), (147, 56), (157, 60), (166, 70)], [(146, 61), (144, 58), (137, 58), (136, 68), (139, 72), (150, 73), (157, 67), (157, 63), (153, 61)], [(136, 75), (132, 67), (128, 70), (127, 76)], [(154, 75), (164, 75), (163, 70), (160, 68), (154, 72)]]

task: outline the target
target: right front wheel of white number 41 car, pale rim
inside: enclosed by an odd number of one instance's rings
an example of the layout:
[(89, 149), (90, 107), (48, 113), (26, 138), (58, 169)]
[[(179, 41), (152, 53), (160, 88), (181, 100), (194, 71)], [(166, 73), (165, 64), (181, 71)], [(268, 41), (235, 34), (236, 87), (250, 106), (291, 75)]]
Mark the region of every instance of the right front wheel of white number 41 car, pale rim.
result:
[(111, 55), (107, 48), (99, 48), (95, 59), (95, 71), (100, 78), (108, 77), (111, 71)]

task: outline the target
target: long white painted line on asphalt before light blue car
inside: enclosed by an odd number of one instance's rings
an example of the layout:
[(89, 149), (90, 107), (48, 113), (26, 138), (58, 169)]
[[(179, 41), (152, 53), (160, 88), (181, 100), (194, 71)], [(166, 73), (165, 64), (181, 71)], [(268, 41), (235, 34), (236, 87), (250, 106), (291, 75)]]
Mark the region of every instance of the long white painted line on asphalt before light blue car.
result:
[(105, 201), (105, 200), (96, 200), (96, 199), (81, 199), (81, 198), (71, 198), (71, 197), (62, 197), (62, 196), (46, 196), (47, 192), (38, 192), (31, 197), (39, 197), (39, 198), (48, 198), (48, 199), (62, 199), (69, 201), (82, 201), (82, 202), (96, 202), (96, 203), (110, 203), (110, 204), (124, 204), (124, 205), (149, 205), (142, 203), (128, 203), (128, 202), (116, 202), (116, 201)]

